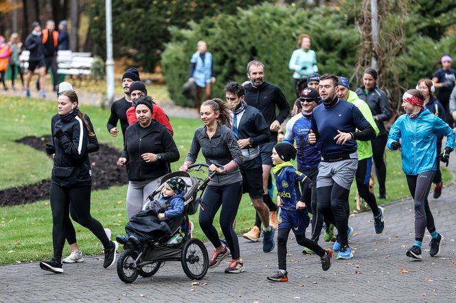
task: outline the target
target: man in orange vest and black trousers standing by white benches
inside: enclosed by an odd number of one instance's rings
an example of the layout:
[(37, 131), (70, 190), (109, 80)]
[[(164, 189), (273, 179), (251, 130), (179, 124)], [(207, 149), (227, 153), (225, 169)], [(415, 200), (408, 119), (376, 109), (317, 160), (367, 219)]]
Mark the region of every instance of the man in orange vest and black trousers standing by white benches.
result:
[(52, 90), (57, 91), (58, 76), (57, 76), (57, 46), (58, 46), (58, 31), (56, 23), (52, 20), (46, 21), (46, 28), (43, 29), (43, 45), (45, 51), (46, 73), (49, 68), (52, 71)]

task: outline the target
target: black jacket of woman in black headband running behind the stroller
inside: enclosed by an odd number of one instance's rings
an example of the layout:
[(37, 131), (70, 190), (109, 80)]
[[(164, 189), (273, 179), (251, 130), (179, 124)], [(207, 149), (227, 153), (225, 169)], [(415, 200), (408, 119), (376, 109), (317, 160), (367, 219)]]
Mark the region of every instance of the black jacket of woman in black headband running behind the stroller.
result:
[[(142, 154), (160, 154), (161, 159), (146, 162)], [(152, 120), (147, 128), (139, 122), (128, 126), (122, 157), (126, 158), (128, 180), (145, 181), (170, 173), (168, 163), (179, 160), (179, 151), (165, 125)]]

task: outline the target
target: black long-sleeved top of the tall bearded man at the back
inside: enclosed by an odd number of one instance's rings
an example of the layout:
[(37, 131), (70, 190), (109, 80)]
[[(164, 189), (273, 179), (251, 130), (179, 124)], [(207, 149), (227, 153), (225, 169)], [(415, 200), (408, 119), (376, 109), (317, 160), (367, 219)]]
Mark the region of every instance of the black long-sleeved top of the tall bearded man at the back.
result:
[[(278, 86), (263, 82), (258, 88), (251, 83), (246, 84), (244, 88), (244, 102), (260, 110), (268, 125), (271, 125), (275, 120), (279, 121), (280, 124), (284, 123), (290, 114), (290, 106)], [(275, 106), (280, 110), (278, 115), (275, 114)], [(271, 132), (271, 142), (277, 142), (277, 132)]]

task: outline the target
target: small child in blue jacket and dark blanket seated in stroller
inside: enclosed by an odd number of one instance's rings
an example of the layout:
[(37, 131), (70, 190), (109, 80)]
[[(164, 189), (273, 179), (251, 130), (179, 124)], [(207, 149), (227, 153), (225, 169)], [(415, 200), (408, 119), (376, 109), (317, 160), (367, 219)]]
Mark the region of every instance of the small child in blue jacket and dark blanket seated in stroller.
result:
[(140, 241), (172, 234), (172, 219), (183, 215), (185, 187), (182, 178), (173, 177), (167, 180), (163, 187), (163, 196), (158, 201), (146, 203), (141, 212), (131, 217), (125, 226), (126, 236), (117, 236), (117, 242), (137, 245)]

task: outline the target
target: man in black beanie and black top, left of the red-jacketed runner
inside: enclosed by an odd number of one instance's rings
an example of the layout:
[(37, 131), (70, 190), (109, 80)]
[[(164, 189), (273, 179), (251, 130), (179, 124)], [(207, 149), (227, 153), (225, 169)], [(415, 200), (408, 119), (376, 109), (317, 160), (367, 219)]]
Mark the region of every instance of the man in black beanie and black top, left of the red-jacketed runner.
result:
[[(139, 79), (139, 71), (134, 67), (127, 69), (122, 75), (122, 88), (124, 88), (124, 97), (113, 102), (111, 105), (111, 116), (109, 116), (108, 124), (106, 125), (111, 136), (115, 137), (119, 133), (117, 130), (117, 121), (120, 121), (122, 128), (122, 136), (125, 135), (125, 130), (128, 128), (128, 120), (126, 119), (126, 111), (131, 107), (130, 84)], [(125, 142), (125, 136), (124, 136)]]

